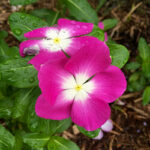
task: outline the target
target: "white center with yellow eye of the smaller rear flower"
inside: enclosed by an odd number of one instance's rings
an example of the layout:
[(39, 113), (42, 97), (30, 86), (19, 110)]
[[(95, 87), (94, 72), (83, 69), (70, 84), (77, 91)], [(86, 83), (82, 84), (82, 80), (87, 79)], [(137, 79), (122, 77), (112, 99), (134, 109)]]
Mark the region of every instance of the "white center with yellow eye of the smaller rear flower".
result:
[(70, 38), (69, 30), (61, 29), (51, 29), (46, 33), (47, 39), (42, 40), (42, 46), (51, 52), (66, 50), (72, 40)]

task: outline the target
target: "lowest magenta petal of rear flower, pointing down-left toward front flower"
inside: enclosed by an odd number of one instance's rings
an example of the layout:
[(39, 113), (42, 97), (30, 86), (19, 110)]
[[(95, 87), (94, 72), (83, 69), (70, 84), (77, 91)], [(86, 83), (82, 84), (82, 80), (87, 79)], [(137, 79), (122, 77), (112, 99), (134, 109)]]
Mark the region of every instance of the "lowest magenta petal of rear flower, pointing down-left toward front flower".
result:
[(65, 54), (62, 52), (49, 53), (48, 51), (40, 51), (39, 54), (34, 56), (29, 63), (32, 64), (37, 70), (40, 69), (40, 66), (56, 59), (65, 58)]

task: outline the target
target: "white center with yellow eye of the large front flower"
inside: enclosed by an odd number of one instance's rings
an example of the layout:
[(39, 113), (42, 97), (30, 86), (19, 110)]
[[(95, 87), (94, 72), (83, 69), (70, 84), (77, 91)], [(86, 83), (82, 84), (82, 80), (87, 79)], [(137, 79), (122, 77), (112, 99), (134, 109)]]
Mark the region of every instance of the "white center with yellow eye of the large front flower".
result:
[(65, 99), (81, 101), (86, 100), (88, 95), (95, 89), (94, 81), (90, 80), (86, 82), (89, 78), (90, 77), (84, 73), (75, 75), (75, 78), (72, 75), (65, 78), (62, 83)]

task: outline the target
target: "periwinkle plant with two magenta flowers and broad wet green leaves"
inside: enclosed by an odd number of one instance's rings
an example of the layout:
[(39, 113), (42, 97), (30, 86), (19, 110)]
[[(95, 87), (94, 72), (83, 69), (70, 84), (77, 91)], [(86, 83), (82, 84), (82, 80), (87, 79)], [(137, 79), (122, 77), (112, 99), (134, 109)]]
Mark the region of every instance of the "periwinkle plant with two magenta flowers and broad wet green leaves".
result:
[[(117, 24), (116, 19), (115, 24), (113, 19), (98, 23), (86, 0), (69, 1), (63, 1), (67, 13), (63, 8), (30, 11), (18, 7), (9, 16), (9, 34), (21, 42), (20, 50), (9, 47), (15, 42), (7, 44), (7, 32), (0, 31), (0, 119), (4, 126), (0, 126), (0, 147), (79, 150), (75, 143), (58, 137), (72, 122), (90, 138), (111, 130), (109, 104), (126, 89), (119, 68), (129, 53), (107, 37), (106, 30)], [(31, 2), (35, 0), (12, 0), (11, 4)], [(69, 7), (74, 4), (78, 7)]]

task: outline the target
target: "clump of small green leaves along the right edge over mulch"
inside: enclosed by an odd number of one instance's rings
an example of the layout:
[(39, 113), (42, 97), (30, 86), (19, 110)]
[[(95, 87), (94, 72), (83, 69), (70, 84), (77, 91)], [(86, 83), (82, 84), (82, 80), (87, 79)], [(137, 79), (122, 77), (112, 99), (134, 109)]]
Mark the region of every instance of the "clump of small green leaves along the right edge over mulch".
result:
[(126, 69), (132, 72), (128, 80), (128, 91), (141, 91), (143, 93), (143, 105), (150, 102), (150, 47), (141, 37), (138, 42), (139, 55), (135, 61), (126, 65)]

